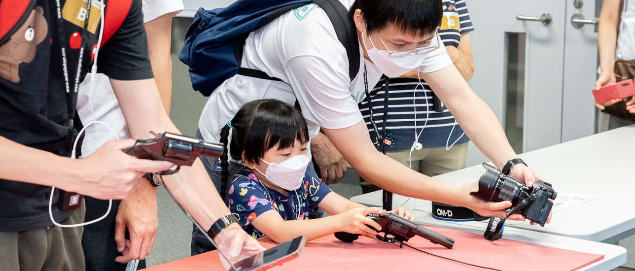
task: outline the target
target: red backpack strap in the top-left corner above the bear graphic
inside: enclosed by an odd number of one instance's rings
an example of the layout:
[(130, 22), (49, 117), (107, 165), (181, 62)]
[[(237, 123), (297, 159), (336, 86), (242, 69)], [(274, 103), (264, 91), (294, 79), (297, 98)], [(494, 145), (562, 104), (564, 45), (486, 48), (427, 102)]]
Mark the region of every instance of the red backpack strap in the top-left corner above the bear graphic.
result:
[(11, 39), (36, 6), (36, 0), (0, 1), (0, 46)]

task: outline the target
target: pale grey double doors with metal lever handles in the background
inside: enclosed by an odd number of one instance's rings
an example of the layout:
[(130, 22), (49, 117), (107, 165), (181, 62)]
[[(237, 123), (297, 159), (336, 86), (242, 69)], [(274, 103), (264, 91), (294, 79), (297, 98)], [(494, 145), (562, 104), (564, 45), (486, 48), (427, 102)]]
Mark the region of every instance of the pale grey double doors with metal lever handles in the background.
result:
[[(594, 18), (596, 1), (580, 8), (574, 0), (466, 2), (476, 28), (470, 33), (476, 73), (469, 84), (497, 115), (514, 150), (591, 135), (597, 34), (593, 25), (578, 29), (570, 20), (575, 13)], [(482, 161), (488, 159), (471, 144), (468, 166)]]

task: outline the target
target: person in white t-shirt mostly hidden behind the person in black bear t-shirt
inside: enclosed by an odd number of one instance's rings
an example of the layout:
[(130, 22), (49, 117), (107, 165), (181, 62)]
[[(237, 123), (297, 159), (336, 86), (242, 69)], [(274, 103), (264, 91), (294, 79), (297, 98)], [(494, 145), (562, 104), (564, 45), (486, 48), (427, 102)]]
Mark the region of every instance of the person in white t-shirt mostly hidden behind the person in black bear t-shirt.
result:
[[(169, 114), (172, 86), (171, 25), (172, 18), (184, 6), (181, 0), (143, 0), (142, 4), (152, 72)], [(94, 85), (92, 90), (91, 83)], [(77, 114), (84, 124), (102, 121), (113, 129), (119, 139), (131, 138), (126, 119), (105, 74), (96, 74), (93, 79), (91, 74), (86, 75), (77, 93)], [(116, 139), (107, 126), (93, 124), (86, 128), (82, 155), (86, 157), (105, 142)], [(141, 260), (139, 268), (145, 268), (144, 258), (152, 251), (158, 225), (156, 193), (157, 188), (149, 182), (140, 182), (137, 191), (130, 197), (112, 201), (112, 209), (104, 220), (84, 226), (82, 246), (87, 270), (123, 271), (126, 270), (126, 263), (135, 259)], [(104, 215), (109, 205), (107, 200), (88, 196), (85, 197), (85, 203), (85, 221)]]

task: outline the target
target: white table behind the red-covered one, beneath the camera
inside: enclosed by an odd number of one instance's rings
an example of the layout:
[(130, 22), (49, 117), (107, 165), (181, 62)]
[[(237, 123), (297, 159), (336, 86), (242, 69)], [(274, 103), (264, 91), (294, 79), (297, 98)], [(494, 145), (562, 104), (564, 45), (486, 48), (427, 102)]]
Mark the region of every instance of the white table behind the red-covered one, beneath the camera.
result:
[[(617, 242), (635, 234), (635, 125), (614, 129), (578, 140), (561, 143), (519, 155), (542, 174), (558, 192), (597, 197), (592, 201), (564, 209), (552, 216), (545, 227), (531, 226), (529, 221), (508, 225), (535, 232), (564, 235), (589, 241)], [(454, 185), (479, 180), (483, 166), (473, 166), (436, 176)], [(352, 201), (369, 206), (382, 205), (381, 191), (352, 197)], [(393, 207), (406, 201), (394, 195)], [(411, 199), (404, 207), (422, 206), (427, 201)], [(438, 227), (454, 227), (436, 220), (424, 211), (414, 212), (417, 221)], [(485, 229), (481, 222), (460, 222)], [(479, 231), (479, 230), (477, 230)], [(482, 230), (481, 230), (482, 231)]]

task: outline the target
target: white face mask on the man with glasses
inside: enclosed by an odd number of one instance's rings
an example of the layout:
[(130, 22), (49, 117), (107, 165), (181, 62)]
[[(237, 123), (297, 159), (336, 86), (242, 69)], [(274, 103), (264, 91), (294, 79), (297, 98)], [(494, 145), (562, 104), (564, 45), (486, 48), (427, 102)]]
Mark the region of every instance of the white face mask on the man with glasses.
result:
[[(364, 36), (364, 32), (361, 33)], [(370, 39), (370, 36), (368, 36)], [(373, 48), (368, 49), (366, 46), (366, 39), (362, 37), (361, 41), (364, 43), (364, 48), (368, 52), (368, 58), (388, 77), (399, 77), (406, 72), (417, 69), (424, 63), (425, 55), (408, 55), (401, 57), (390, 57), (387, 50), (379, 50), (375, 47), (373, 40), (370, 39), (370, 44)]]

